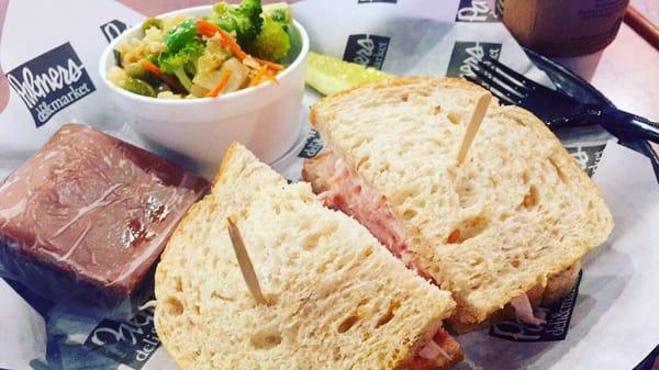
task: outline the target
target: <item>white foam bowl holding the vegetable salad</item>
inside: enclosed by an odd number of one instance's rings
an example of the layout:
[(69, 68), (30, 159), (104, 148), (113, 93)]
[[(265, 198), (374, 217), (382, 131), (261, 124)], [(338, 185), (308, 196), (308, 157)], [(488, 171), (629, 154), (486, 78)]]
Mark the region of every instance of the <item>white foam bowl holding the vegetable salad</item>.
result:
[[(159, 15), (202, 16), (212, 7), (182, 9)], [(230, 92), (219, 98), (185, 100), (155, 99), (138, 96), (110, 82), (105, 75), (114, 66), (113, 51), (122, 41), (142, 37), (141, 24), (115, 38), (101, 55), (100, 74), (110, 96), (122, 110), (129, 124), (152, 146), (165, 147), (166, 156), (192, 165), (192, 169), (212, 176), (232, 142), (245, 144), (263, 161), (272, 162), (283, 156), (302, 130), (302, 94), (309, 36), (300, 23), (293, 25), (301, 40), (300, 55), (277, 76), (278, 83)]]

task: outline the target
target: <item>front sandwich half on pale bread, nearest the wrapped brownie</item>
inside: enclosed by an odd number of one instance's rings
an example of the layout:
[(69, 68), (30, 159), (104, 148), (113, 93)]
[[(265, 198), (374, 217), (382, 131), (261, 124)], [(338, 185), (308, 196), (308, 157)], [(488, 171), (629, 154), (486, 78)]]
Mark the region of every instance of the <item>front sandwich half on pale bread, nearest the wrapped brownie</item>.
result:
[[(268, 304), (234, 254), (236, 220)], [(171, 236), (156, 271), (155, 325), (182, 369), (449, 369), (455, 303), (358, 222), (288, 184), (239, 144)]]

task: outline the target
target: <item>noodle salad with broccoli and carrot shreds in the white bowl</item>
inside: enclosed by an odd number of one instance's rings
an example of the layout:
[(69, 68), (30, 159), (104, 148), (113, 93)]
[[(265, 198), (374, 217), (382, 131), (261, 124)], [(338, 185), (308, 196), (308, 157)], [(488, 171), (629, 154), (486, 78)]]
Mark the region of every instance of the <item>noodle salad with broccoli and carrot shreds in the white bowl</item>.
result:
[(267, 81), (298, 56), (300, 38), (286, 3), (217, 3), (201, 19), (148, 19), (144, 36), (123, 41), (108, 79), (158, 99), (217, 97)]

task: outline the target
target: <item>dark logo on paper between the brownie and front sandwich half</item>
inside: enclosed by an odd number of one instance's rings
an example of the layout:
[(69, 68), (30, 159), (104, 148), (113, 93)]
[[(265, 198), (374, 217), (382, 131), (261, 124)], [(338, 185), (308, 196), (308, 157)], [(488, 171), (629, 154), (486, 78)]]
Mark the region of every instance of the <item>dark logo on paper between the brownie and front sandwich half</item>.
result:
[(142, 369), (160, 346), (154, 310), (139, 311), (125, 322), (103, 319), (87, 337), (85, 346), (133, 369)]

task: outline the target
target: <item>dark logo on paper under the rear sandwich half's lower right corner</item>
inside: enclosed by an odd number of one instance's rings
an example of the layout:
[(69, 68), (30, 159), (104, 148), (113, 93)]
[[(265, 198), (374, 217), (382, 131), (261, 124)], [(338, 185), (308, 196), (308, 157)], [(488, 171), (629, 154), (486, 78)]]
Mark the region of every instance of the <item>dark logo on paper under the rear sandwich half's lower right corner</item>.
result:
[(520, 319), (507, 319), (490, 326), (490, 335), (512, 341), (563, 340), (568, 335), (570, 319), (577, 303), (581, 274), (582, 272), (579, 271), (574, 288), (566, 296), (551, 305), (540, 305), (537, 309), (537, 311), (545, 313), (545, 324), (536, 326), (522, 323)]

